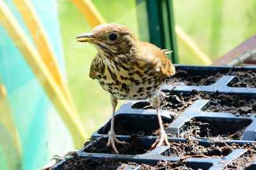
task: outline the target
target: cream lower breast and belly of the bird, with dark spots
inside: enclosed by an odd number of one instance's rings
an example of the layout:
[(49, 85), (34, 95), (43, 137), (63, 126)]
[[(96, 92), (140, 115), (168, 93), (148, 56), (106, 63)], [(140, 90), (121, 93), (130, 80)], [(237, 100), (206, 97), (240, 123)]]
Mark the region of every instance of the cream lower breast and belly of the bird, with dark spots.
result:
[(156, 96), (166, 77), (156, 69), (139, 69), (124, 64), (117, 67), (109, 62), (105, 66), (104, 74), (97, 76), (97, 80), (102, 88), (116, 99), (139, 100)]

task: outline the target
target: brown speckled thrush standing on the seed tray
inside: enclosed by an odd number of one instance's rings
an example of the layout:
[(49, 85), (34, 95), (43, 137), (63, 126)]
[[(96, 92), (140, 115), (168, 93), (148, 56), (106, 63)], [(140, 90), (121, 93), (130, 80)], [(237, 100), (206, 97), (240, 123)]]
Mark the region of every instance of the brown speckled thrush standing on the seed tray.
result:
[(166, 55), (170, 51), (140, 41), (127, 27), (115, 23), (98, 25), (92, 32), (77, 36), (76, 40), (91, 43), (98, 51), (89, 75), (110, 94), (112, 118), (107, 146), (112, 146), (113, 151), (119, 153), (115, 143), (129, 144), (118, 140), (114, 131), (118, 100), (142, 99), (153, 102), (160, 127), (159, 136), (151, 148), (163, 143), (170, 146), (159, 111), (161, 88), (166, 78), (175, 74), (175, 67)]

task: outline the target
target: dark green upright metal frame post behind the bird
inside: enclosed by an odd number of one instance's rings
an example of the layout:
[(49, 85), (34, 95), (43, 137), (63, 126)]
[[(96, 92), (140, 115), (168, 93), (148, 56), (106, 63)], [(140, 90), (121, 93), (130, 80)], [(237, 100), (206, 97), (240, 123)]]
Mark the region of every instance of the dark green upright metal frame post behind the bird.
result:
[(169, 58), (178, 63), (172, 0), (145, 0), (150, 43), (172, 50)]

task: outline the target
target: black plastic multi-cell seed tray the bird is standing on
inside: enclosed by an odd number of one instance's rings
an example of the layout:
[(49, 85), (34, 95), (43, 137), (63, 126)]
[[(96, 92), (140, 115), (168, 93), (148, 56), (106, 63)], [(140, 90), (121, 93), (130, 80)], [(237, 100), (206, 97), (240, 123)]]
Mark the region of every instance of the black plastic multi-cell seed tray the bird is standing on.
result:
[[(176, 66), (177, 69), (184, 69), (189, 76), (196, 76), (207, 74), (209, 76), (216, 76), (218, 73), (219, 79), (216, 79), (211, 85), (166, 85), (163, 88), (163, 92), (170, 94), (186, 94), (193, 91), (201, 91), (206, 93), (216, 92), (219, 94), (230, 94), (244, 96), (244, 98), (255, 98), (255, 88), (248, 87), (229, 87), (230, 82), (234, 80), (234, 76), (227, 76), (222, 74), (230, 73), (231, 67), (200, 67), (200, 66)], [(232, 71), (248, 71), (253, 70), (256, 73), (256, 69), (253, 67), (234, 67)], [(220, 73), (220, 74), (219, 74)], [(198, 76), (196, 77), (198, 79)], [(232, 84), (232, 83), (231, 83)], [(234, 83), (233, 83), (234, 85)], [(238, 101), (237, 101), (238, 102)], [(171, 146), (159, 146), (154, 150), (150, 150), (150, 146), (157, 138), (157, 129), (159, 129), (156, 110), (153, 108), (143, 109), (143, 106), (148, 105), (148, 101), (127, 101), (121, 106), (115, 115), (115, 133), (116, 137), (121, 141), (127, 141), (132, 143), (134, 134), (140, 143), (140, 147), (143, 148), (138, 154), (122, 153), (119, 155), (100, 152), (92, 153), (92, 146), (100, 143), (101, 140), (108, 139), (108, 131), (110, 129), (111, 120), (109, 119), (104, 125), (102, 125), (92, 135), (92, 139), (95, 141), (84, 146), (77, 152), (77, 156), (80, 159), (118, 159), (119, 163), (124, 162), (126, 166), (122, 169), (141, 169), (144, 164), (150, 164), (152, 169), (159, 160), (171, 162), (172, 166), (192, 169), (224, 169), (228, 164), (232, 164), (233, 161), (241, 159), (243, 157), (253, 157), (246, 169), (256, 169), (256, 154), (252, 153), (253, 148), (250, 150), (248, 147), (242, 147), (248, 143), (256, 143), (256, 113), (250, 111), (250, 113), (229, 113), (228, 111), (212, 112), (207, 111), (207, 106), (210, 101), (207, 99), (197, 99), (193, 101), (182, 113), (177, 114), (172, 110), (161, 110), (161, 116), (163, 118), (163, 124), (165, 131), (168, 134), (168, 140)], [(141, 106), (141, 109), (136, 109), (134, 106)], [(193, 125), (193, 122), (195, 125)], [(121, 129), (121, 130), (120, 130)], [(208, 133), (211, 132), (211, 136)], [(189, 139), (188, 139), (189, 138)], [(232, 146), (230, 152), (221, 152), (221, 155), (214, 153), (210, 155), (201, 155), (189, 152), (187, 155), (173, 155), (175, 148), (179, 148), (180, 143), (198, 143), (198, 147), (201, 146), (211, 149), (215, 152), (220, 152), (217, 148), (224, 145)], [(177, 145), (175, 145), (175, 143)], [(106, 145), (106, 144), (105, 144)], [(105, 146), (104, 145), (104, 146)], [(234, 146), (236, 145), (236, 146)], [(241, 147), (238, 147), (241, 146)], [(184, 150), (184, 148), (179, 148)], [(186, 148), (188, 149), (188, 148)], [(195, 149), (195, 148), (194, 148)], [(191, 149), (193, 152), (193, 147)], [(195, 156), (196, 155), (196, 156)], [(74, 156), (68, 157), (62, 160), (53, 169), (61, 169), (61, 166), (70, 159), (74, 159)], [(134, 164), (128, 164), (129, 162), (135, 162)], [(183, 164), (179, 164), (182, 162)], [(185, 169), (186, 169), (185, 168)], [(144, 167), (145, 169), (145, 167)], [(155, 168), (156, 169), (156, 168)], [(231, 168), (232, 169), (232, 168)]]

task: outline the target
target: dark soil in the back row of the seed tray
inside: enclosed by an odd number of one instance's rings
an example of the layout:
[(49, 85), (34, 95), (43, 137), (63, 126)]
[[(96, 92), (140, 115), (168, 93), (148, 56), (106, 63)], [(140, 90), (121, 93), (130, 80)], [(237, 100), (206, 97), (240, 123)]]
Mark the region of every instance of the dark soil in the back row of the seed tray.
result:
[(191, 74), (188, 71), (177, 69), (176, 74), (168, 78), (168, 85), (212, 85), (222, 76), (236, 76), (229, 84), (230, 87), (256, 87), (256, 71), (228, 71), (227, 73), (215, 74)]

